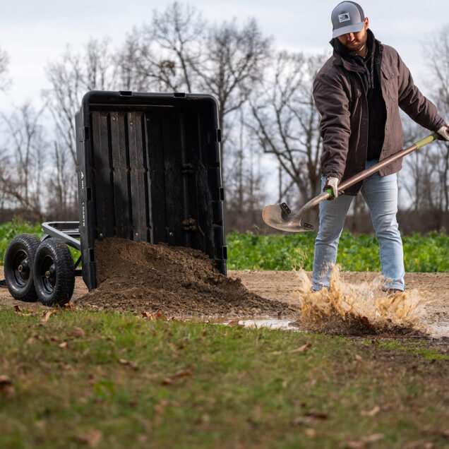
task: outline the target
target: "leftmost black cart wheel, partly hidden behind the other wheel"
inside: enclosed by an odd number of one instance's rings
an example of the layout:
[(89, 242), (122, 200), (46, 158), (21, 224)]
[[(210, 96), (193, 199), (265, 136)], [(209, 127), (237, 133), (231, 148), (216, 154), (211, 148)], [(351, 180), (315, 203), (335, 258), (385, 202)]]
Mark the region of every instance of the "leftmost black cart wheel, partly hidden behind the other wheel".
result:
[(33, 277), (34, 261), (40, 239), (32, 234), (19, 234), (8, 245), (4, 270), (11, 296), (20, 301), (35, 302), (37, 294)]

